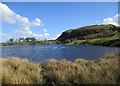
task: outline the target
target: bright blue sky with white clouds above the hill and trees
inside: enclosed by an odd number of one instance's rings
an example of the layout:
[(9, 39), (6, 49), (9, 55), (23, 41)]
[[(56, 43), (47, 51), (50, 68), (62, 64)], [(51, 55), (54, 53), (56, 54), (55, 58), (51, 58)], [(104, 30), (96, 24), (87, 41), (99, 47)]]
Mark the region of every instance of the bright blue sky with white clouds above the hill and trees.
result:
[(0, 2), (0, 42), (10, 38), (56, 39), (69, 29), (118, 24), (117, 2)]

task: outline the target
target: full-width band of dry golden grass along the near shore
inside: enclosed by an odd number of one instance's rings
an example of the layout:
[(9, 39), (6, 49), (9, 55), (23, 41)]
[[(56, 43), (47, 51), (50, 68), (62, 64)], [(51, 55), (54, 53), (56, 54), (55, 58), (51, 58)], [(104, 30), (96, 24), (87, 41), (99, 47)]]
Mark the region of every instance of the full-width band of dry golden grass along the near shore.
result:
[(1, 84), (120, 84), (119, 56), (74, 62), (51, 59), (44, 63), (31, 63), (16, 57), (0, 59)]

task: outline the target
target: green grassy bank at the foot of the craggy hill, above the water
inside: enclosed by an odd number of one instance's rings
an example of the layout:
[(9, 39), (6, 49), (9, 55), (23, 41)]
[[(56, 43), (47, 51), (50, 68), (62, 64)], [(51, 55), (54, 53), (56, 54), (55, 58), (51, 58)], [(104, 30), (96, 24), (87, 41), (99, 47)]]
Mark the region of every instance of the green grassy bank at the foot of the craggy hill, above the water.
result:
[(84, 39), (84, 40), (75, 40), (67, 45), (101, 45), (109, 47), (120, 47), (120, 39), (118, 38), (120, 33), (116, 33), (111, 37), (95, 38), (95, 39)]

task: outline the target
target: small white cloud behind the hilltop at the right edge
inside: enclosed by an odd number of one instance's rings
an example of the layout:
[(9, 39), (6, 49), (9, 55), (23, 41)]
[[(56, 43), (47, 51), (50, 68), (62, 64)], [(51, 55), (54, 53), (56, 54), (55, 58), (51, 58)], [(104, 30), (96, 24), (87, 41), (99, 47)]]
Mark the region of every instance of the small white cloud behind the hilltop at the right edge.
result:
[(118, 20), (119, 18), (120, 18), (120, 14), (116, 14), (112, 18), (105, 18), (103, 20), (103, 24), (113, 24), (116, 26), (120, 26), (120, 20)]

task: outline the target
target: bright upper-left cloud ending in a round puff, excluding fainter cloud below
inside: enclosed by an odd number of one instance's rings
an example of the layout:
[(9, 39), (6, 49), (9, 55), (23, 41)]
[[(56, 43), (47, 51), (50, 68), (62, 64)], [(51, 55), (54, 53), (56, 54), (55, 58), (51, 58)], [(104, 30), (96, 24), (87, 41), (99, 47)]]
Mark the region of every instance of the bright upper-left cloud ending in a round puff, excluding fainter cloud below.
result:
[(0, 3), (0, 19), (3, 22), (7, 22), (10, 24), (19, 24), (21, 26), (40, 26), (42, 22), (39, 18), (36, 18), (34, 21), (30, 22), (30, 20), (24, 16), (20, 16), (19, 14), (12, 11), (7, 5)]

